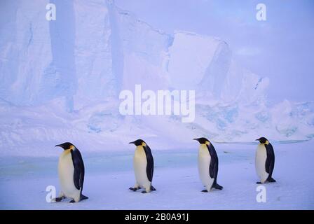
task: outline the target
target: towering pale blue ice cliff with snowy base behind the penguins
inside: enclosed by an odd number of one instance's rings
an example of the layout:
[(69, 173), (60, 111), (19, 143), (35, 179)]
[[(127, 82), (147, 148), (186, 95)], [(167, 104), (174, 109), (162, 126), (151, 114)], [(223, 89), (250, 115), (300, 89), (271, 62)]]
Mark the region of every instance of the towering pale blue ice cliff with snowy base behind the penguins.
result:
[[(166, 34), (105, 0), (55, 0), (57, 20), (48, 21), (47, 3), (2, 3), (0, 155), (47, 155), (42, 148), (62, 141), (116, 150), (139, 137), (156, 148), (189, 147), (201, 136), (313, 139), (313, 102), (269, 106), (269, 79), (238, 66), (225, 41)], [(196, 120), (121, 116), (118, 94), (136, 84), (195, 90)]]

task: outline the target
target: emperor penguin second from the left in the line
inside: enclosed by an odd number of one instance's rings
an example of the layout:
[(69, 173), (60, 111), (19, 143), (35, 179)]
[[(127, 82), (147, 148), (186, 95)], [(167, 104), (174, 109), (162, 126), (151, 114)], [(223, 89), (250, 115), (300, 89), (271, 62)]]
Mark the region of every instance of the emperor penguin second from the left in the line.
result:
[(135, 144), (136, 146), (133, 158), (136, 183), (134, 188), (129, 189), (136, 191), (144, 188), (145, 190), (142, 193), (149, 193), (151, 190), (156, 190), (151, 185), (151, 181), (153, 181), (153, 155), (151, 155), (151, 148), (142, 139), (137, 139), (129, 144)]

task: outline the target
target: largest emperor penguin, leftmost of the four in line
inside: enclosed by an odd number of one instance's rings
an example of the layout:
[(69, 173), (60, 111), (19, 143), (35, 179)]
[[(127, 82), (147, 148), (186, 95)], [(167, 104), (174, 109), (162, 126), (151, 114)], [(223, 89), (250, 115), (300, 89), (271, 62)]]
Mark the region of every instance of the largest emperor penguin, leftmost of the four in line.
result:
[(60, 202), (66, 197), (71, 198), (71, 203), (86, 200), (82, 194), (84, 182), (84, 162), (78, 148), (70, 142), (56, 145), (64, 149), (59, 158), (58, 172), (60, 181), (60, 195), (55, 202)]

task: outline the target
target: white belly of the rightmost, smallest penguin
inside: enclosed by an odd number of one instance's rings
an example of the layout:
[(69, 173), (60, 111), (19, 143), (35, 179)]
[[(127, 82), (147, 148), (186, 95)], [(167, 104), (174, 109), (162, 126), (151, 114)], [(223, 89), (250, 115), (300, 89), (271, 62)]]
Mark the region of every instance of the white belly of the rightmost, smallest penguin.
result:
[(259, 176), (259, 180), (261, 183), (264, 183), (268, 178), (268, 174), (266, 173), (266, 159), (267, 152), (264, 144), (259, 144), (257, 146), (257, 153), (255, 156), (255, 169), (257, 171), (257, 176)]

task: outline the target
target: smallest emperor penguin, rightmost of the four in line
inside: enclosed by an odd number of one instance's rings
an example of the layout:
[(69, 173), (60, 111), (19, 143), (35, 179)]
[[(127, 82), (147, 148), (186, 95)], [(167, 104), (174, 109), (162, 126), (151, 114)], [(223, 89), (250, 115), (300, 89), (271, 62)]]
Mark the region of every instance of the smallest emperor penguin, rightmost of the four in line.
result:
[(256, 139), (255, 141), (259, 141), (257, 153), (255, 155), (255, 169), (260, 180), (257, 183), (266, 183), (266, 181), (276, 182), (272, 177), (273, 168), (275, 166), (275, 153), (273, 151), (273, 146), (264, 137)]

